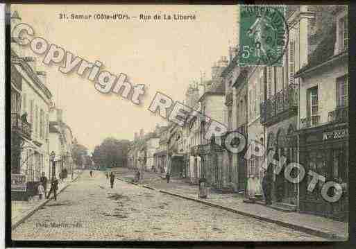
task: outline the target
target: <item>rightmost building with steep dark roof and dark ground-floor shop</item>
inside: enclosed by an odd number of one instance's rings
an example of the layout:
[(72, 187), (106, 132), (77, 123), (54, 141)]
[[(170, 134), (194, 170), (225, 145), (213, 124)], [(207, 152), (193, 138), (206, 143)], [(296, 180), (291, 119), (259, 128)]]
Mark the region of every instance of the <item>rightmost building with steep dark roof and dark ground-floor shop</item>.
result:
[[(332, 26), (296, 72), (300, 84), (298, 106), (299, 162), (344, 186), (334, 203), (321, 196), (322, 184), (307, 191), (311, 176), (300, 182), (299, 211), (346, 220), (348, 217), (348, 10), (334, 7)], [(321, 27), (323, 27), (321, 25)], [(328, 195), (332, 196), (332, 191)]]

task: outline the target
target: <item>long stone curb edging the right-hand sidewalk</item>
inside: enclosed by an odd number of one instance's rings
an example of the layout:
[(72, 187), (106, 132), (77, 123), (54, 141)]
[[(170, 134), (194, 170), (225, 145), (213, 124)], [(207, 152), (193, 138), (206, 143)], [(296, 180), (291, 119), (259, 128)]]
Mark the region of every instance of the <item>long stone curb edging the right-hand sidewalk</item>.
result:
[[(126, 182), (126, 181), (123, 180), (123, 182)], [(236, 214), (241, 214), (241, 215), (248, 216), (248, 217), (251, 217), (251, 218), (256, 218), (257, 220), (260, 220), (260, 221), (266, 221), (266, 222), (269, 222), (269, 223), (276, 223), (277, 225), (280, 225), (282, 227), (291, 228), (291, 229), (298, 230), (300, 232), (305, 232), (307, 234), (311, 234), (311, 235), (314, 235), (314, 236), (317, 236), (317, 237), (322, 237), (322, 238), (325, 238), (325, 239), (332, 239), (333, 241), (347, 241), (348, 240), (347, 237), (341, 237), (341, 236), (339, 236), (337, 234), (334, 234), (333, 232), (323, 232), (323, 231), (320, 231), (320, 230), (316, 230), (313, 227), (306, 227), (306, 226), (302, 226), (302, 225), (291, 224), (291, 223), (287, 223), (287, 222), (284, 222), (284, 221), (278, 221), (276, 219), (268, 218), (268, 217), (265, 217), (265, 216), (259, 216), (259, 215), (255, 215), (255, 214), (250, 214), (248, 212), (244, 212), (244, 211), (240, 211), (240, 210), (237, 210), (237, 209), (233, 209), (231, 207), (226, 207), (226, 206), (223, 206), (223, 205), (210, 203), (210, 202), (208, 202), (206, 200), (201, 200), (201, 199), (198, 199), (198, 198), (185, 196), (183, 194), (176, 194), (176, 193), (173, 193), (173, 192), (170, 192), (170, 191), (166, 191), (166, 190), (163, 190), (163, 189), (155, 189), (154, 187), (151, 187), (151, 186), (148, 186), (148, 185), (141, 185), (141, 184), (137, 184), (137, 183), (134, 183), (134, 182), (126, 182), (126, 183), (135, 184), (135, 185), (137, 185), (139, 187), (144, 187), (146, 189), (152, 189), (152, 190), (155, 190), (155, 191), (159, 191), (159, 192), (161, 192), (163, 194), (169, 194), (171, 196), (184, 198), (186, 200), (192, 200), (192, 201), (195, 201), (197, 203), (203, 203), (203, 204), (208, 205), (210, 207), (217, 207), (219, 209), (224, 209), (226, 211), (234, 212)]]

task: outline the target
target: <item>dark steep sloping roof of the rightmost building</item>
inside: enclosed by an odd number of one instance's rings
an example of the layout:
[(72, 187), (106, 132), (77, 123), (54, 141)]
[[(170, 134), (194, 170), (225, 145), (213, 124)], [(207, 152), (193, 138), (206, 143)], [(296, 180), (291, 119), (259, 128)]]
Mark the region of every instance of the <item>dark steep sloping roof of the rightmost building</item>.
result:
[(327, 62), (334, 56), (336, 35), (336, 25), (333, 25), (332, 28), (330, 28), (330, 31), (325, 32), (323, 40), (318, 44), (318, 46), (316, 46), (316, 49), (308, 57), (308, 64), (296, 72), (296, 76), (302, 74), (308, 69), (312, 69), (313, 67)]

